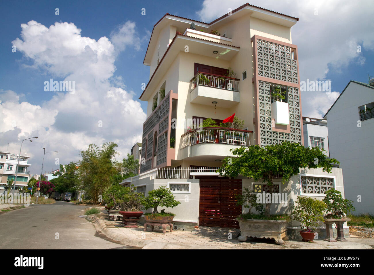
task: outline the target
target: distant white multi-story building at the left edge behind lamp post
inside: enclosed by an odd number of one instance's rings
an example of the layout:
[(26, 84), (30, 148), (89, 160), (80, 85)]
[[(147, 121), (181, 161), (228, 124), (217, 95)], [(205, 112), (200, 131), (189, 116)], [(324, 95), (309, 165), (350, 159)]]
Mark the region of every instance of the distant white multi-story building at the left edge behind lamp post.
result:
[[(31, 166), (31, 164), (27, 163), (28, 158), (30, 158), (30, 156), (22, 155), (19, 158), (15, 190), (22, 189), (24, 186), (27, 186), (30, 178), (30, 172), (27, 171), (27, 168)], [(17, 164), (18, 155), (0, 151), (0, 189), (5, 189), (7, 187), (8, 180), (15, 179)]]

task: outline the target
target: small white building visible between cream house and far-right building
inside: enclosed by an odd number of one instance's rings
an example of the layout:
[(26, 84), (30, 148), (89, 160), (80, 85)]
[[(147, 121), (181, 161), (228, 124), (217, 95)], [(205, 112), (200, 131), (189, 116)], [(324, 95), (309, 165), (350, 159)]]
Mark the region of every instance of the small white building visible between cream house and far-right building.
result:
[(325, 150), (329, 155), (327, 120), (303, 116), (304, 146)]

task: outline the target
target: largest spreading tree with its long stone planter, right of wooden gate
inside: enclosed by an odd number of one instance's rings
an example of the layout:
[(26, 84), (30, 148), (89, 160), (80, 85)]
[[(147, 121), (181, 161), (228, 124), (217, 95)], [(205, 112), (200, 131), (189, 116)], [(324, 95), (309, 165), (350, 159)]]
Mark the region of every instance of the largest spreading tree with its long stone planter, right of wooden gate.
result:
[[(300, 173), (300, 168), (322, 168), (322, 171), (330, 173), (333, 164), (339, 163), (337, 159), (327, 158), (324, 152), (318, 147), (304, 147), (299, 143), (291, 143), (283, 141), (282, 144), (261, 146), (240, 147), (230, 149), (234, 157), (226, 157), (222, 161), (222, 166), (218, 169), (220, 175), (236, 178), (239, 174), (243, 177), (250, 177), (254, 181), (262, 181), (267, 184), (269, 190), (267, 195), (272, 198), (274, 193), (274, 178), (277, 174), (282, 176), (282, 183), (288, 182), (291, 177)], [(302, 157), (300, 157), (302, 156)], [(315, 162), (315, 159), (318, 162)], [(280, 186), (281, 187), (281, 184)], [(280, 188), (280, 190), (282, 190)], [(245, 236), (261, 236), (260, 231), (264, 233), (263, 237), (276, 239), (277, 244), (282, 244), (283, 230), (285, 232), (286, 223), (283, 227), (277, 229), (278, 233), (272, 237), (272, 232), (268, 232), (269, 228), (275, 227), (274, 220), (281, 217), (272, 217), (270, 215), (270, 207), (272, 200), (265, 201), (265, 211), (263, 215), (253, 217), (253, 225), (240, 224), (241, 238), (239, 241), (245, 241)], [(275, 203), (275, 202), (273, 202)], [(284, 219), (285, 220), (285, 219)], [(257, 222), (257, 224), (255, 224)], [(284, 233), (285, 234), (285, 233)], [(270, 236), (269, 236), (270, 235)]]

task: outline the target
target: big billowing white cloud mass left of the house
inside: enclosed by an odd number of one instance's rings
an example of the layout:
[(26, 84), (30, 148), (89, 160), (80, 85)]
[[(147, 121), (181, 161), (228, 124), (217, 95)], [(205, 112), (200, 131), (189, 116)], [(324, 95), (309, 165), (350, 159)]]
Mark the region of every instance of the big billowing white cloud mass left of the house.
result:
[[(17, 52), (33, 62), (31, 67), (42, 70), (46, 81), (74, 81), (75, 92), (51, 92), (53, 97), (37, 106), (22, 101), (24, 96), (14, 91), (0, 90), (0, 146), (6, 148), (9, 142), (9, 151), (19, 152), (24, 138), (39, 136), (33, 143), (22, 145), (22, 152), (31, 156), (31, 171), (37, 173), (43, 147), (59, 151), (46, 155), (45, 171), (56, 169), (56, 157), (61, 164), (77, 161), (79, 152), (90, 143), (113, 141), (119, 145), (118, 158), (125, 157), (134, 134), (137, 141), (141, 139), (146, 115), (134, 92), (126, 91), (122, 77), (113, 77), (113, 73), (116, 46), (121, 51), (129, 46), (139, 48), (138, 43), (130, 43), (140, 41), (135, 23), (126, 22), (119, 28), (113, 43), (107, 37), (98, 41), (82, 37), (81, 30), (67, 22), (47, 28), (30, 21), (21, 28), (21, 39), (12, 42)], [(40, 83), (40, 91), (43, 89)]]

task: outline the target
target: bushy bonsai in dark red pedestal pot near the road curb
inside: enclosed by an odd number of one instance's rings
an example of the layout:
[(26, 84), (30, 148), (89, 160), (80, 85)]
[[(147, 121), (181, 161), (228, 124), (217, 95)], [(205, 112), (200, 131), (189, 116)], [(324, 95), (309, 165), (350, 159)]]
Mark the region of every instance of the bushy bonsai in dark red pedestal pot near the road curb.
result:
[(123, 198), (123, 202), (120, 204), (121, 211), (119, 213), (123, 216), (123, 223), (125, 227), (138, 227), (137, 223), (140, 220), (140, 216), (143, 214), (142, 203), (144, 200), (143, 193), (136, 192), (134, 184), (131, 187), (123, 187), (127, 190), (126, 195)]

